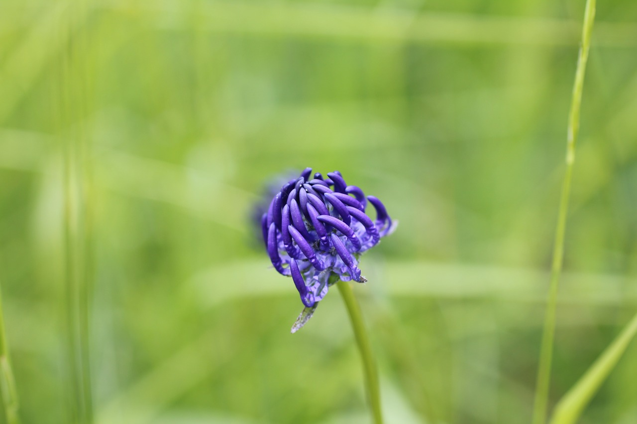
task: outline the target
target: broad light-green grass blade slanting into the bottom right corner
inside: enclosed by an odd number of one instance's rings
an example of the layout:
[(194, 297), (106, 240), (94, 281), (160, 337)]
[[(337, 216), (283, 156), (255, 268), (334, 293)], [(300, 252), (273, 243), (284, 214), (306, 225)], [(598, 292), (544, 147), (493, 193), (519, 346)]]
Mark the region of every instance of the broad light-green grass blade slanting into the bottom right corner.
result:
[(590, 399), (599, 390), (599, 386), (613, 371), (635, 334), (637, 334), (637, 314), (624, 327), (617, 339), (590, 366), (582, 378), (575, 383), (575, 386), (557, 403), (555, 413), (550, 421), (551, 424), (571, 424), (577, 421)]

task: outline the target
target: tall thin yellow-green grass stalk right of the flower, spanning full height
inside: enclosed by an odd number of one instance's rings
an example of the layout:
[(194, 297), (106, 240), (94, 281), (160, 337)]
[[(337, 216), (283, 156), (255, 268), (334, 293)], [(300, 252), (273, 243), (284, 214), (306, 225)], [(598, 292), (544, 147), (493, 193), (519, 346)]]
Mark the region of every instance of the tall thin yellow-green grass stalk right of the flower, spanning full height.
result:
[(551, 268), (551, 281), (548, 290), (547, 309), (544, 320), (544, 331), (540, 348), (540, 365), (538, 367), (538, 380), (535, 390), (535, 403), (533, 408), (533, 424), (544, 424), (547, 415), (548, 388), (550, 383), (551, 363), (553, 357), (553, 344), (555, 339), (555, 309), (557, 308), (557, 288), (564, 263), (564, 234), (566, 232), (566, 218), (568, 216), (568, 202), (571, 192), (571, 179), (573, 176), (573, 164), (575, 163), (575, 145), (580, 128), (580, 106), (582, 104), (582, 88), (586, 61), (589, 56), (590, 34), (595, 18), (595, 0), (587, 0), (582, 29), (582, 45), (577, 60), (575, 71), (575, 83), (573, 84), (573, 97), (571, 98), (571, 111), (568, 120), (568, 136), (566, 142), (566, 174), (562, 182), (562, 194), (559, 203), (557, 227), (555, 229), (555, 241), (553, 251), (553, 263)]

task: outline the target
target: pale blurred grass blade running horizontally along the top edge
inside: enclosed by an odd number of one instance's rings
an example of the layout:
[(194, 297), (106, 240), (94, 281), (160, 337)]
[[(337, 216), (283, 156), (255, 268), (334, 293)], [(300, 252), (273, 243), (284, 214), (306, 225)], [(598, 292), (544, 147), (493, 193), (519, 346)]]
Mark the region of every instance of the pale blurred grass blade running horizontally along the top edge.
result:
[[(179, 2), (114, 1), (107, 10), (143, 17), (161, 29), (190, 31), (192, 20)], [(202, 3), (200, 31), (254, 36), (332, 38), (383, 43), (450, 43), (480, 45), (576, 45), (579, 25), (571, 20), (411, 12), (390, 13), (343, 4), (259, 3), (215, 1)], [(168, 18), (169, 17), (169, 18)], [(634, 46), (633, 23), (605, 22), (599, 28), (600, 46)]]

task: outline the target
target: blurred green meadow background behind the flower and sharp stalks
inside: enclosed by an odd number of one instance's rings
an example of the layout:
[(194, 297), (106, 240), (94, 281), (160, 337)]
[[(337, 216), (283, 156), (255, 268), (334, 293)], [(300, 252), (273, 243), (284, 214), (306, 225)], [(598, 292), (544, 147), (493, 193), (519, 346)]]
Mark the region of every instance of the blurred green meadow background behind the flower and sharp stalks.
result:
[[(367, 423), (343, 302), (290, 335), (250, 222), (306, 166), (400, 222), (355, 286), (387, 422), (528, 423), (583, 3), (0, 2), (24, 423)], [(637, 3), (600, 1), (550, 402), (637, 309), (636, 66)], [(635, 376), (637, 344), (582, 423), (637, 422)]]

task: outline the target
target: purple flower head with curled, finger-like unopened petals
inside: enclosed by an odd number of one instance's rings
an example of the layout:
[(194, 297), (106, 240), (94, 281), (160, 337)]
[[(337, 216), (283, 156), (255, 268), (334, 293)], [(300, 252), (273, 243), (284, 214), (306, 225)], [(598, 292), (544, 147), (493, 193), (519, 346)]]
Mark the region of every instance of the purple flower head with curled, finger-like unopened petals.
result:
[[(316, 307), (336, 277), (367, 281), (359, 257), (396, 227), (382, 202), (347, 185), (340, 172), (323, 178), (311, 171), (285, 183), (261, 216), (272, 265), (292, 277), (306, 308)], [(374, 220), (366, 215), (368, 204), (376, 211)]]

